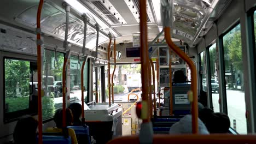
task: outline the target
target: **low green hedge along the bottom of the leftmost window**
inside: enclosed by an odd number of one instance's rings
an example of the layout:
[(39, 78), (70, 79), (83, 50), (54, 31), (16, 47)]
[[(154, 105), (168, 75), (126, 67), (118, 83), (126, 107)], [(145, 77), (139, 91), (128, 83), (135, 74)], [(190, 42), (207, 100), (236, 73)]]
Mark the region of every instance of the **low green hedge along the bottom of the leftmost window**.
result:
[(30, 97), (5, 98), (5, 105), (8, 105), (8, 112), (28, 109)]

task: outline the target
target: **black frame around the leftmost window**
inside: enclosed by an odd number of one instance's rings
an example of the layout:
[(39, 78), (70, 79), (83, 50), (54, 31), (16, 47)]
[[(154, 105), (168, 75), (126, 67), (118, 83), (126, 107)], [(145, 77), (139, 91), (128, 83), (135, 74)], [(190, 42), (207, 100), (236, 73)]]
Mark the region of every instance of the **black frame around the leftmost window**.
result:
[[(4, 120), (4, 123), (14, 122), (24, 115), (37, 115), (37, 112), (35, 113), (30, 107), (30, 102), (32, 101), (32, 100), (30, 100), (31, 97), (29, 97), (29, 100), (28, 100), (28, 109), (18, 110), (18, 111), (13, 111), (13, 112), (6, 112), (6, 109), (5, 109), (6, 108), (5, 107), (5, 59), (13, 59), (13, 60), (18, 60), (18, 61), (28, 61), (30, 63), (31, 62), (37, 63), (33, 59), (3, 56), (3, 110), (4, 110), (3, 111), (3, 120)], [(30, 68), (30, 70), (31, 70), (31, 68)], [(28, 83), (28, 85), (29, 85), (29, 83)]]

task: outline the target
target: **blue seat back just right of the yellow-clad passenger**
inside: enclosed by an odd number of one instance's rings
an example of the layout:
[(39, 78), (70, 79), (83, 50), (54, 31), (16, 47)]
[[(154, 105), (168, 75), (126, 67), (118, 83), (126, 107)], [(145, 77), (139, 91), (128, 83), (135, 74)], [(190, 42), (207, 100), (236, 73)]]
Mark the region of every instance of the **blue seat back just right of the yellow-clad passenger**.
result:
[(75, 131), (75, 135), (77, 136), (78, 143), (90, 144), (90, 135), (89, 135), (89, 127), (87, 125), (80, 126), (68, 126), (67, 128), (71, 128)]

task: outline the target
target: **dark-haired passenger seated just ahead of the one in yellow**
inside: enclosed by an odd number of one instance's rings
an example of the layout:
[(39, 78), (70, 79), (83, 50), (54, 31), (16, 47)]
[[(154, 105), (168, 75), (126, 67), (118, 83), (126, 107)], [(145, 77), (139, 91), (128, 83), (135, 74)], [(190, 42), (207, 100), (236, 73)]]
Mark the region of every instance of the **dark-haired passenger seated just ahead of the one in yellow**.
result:
[(83, 123), (80, 120), (82, 114), (82, 105), (79, 103), (72, 103), (69, 105), (69, 109), (71, 109), (74, 116), (73, 125), (82, 125)]

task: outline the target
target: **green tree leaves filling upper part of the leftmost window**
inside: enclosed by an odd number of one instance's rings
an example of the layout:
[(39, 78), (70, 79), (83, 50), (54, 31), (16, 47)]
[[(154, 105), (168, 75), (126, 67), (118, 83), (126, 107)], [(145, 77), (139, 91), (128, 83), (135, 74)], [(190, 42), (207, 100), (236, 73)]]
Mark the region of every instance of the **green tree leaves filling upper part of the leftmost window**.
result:
[(4, 73), (6, 98), (15, 97), (18, 82), (19, 87), (22, 89), (22, 97), (29, 95), (30, 62), (6, 58), (4, 61)]

